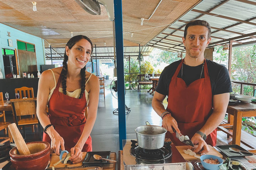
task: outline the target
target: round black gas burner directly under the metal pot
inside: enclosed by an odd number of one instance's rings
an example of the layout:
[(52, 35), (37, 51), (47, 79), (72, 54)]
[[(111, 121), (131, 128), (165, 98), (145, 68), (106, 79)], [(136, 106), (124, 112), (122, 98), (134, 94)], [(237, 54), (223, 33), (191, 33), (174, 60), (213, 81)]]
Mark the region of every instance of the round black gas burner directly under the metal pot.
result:
[(172, 155), (171, 142), (164, 142), (164, 146), (160, 149), (143, 149), (136, 145), (137, 141), (131, 140), (130, 154), (137, 158), (136, 162), (139, 163), (141, 160), (145, 162), (164, 162), (165, 158), (169, 158)]

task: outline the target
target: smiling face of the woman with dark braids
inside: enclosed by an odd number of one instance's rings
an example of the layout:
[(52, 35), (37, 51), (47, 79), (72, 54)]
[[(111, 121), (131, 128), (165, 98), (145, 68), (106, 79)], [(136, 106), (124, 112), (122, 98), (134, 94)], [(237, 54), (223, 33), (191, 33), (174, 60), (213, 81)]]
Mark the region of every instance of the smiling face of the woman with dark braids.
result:
[(92, 47), (89, 41), (81, 39), (69, 49), (66, 46), (66, 54), (68, 56), (68, 63), (83, 69), (86, 63), (90, 60)]

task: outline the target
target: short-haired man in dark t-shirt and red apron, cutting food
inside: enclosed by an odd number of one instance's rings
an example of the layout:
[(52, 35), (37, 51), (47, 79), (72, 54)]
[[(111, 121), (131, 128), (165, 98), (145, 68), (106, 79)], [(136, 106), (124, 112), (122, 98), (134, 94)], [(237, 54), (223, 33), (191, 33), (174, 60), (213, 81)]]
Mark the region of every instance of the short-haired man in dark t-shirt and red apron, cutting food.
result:
[(175, 130), (198, 145), (195, 152), (206, 153), (210, 151), (207, 144), (216, 145), (217, 127), (225, 117), (232, 92), (231, 82), (226, 67), (204, 58), (204, 50), (211, 41), (209, 23), (202, 20), (187, 23), (182, 41), (186, 56), (165, 67), (152, 106), (169, 131), (166, 138), (174, 145), (186, 145), (175, 137)]

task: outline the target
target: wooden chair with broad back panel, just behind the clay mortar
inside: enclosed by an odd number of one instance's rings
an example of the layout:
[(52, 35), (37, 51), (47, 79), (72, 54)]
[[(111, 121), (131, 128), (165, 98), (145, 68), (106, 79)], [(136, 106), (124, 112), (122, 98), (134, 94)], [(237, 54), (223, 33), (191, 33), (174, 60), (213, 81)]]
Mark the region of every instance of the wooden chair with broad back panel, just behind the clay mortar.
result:
[[(15, 123), (17, 126), (23, 126), (23, 133), (26, 138), (25, 125), (38, 125), (39, 135), (41, 136), (41, 129), (39, 125), (38, 118), (36, 117), (36, 98), (26, 98), (26, 99), (11, 99), (12, 111), (15, 116)], [(29, 117), (29, 116), (33, 117)], [(20, 120), (18, 117), (20, 116)]]

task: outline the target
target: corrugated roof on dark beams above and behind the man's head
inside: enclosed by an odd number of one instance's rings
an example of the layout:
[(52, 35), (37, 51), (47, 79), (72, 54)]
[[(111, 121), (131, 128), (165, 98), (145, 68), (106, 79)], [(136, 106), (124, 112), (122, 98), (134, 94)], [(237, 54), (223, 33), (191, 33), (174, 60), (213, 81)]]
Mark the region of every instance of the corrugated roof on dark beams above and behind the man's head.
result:
[(212, 40), (209, 47), (228, 44), (230, 40), (233, 40), (233, 46), (254, 44), (256, 43), (255, 11), (256, 1), (204, 0), (149, 41), (147, 45), (171, 52), (182, 52), (184, 46), (181, 38), (185, 25), (196, 19), (206, 20), (212, 27)]

